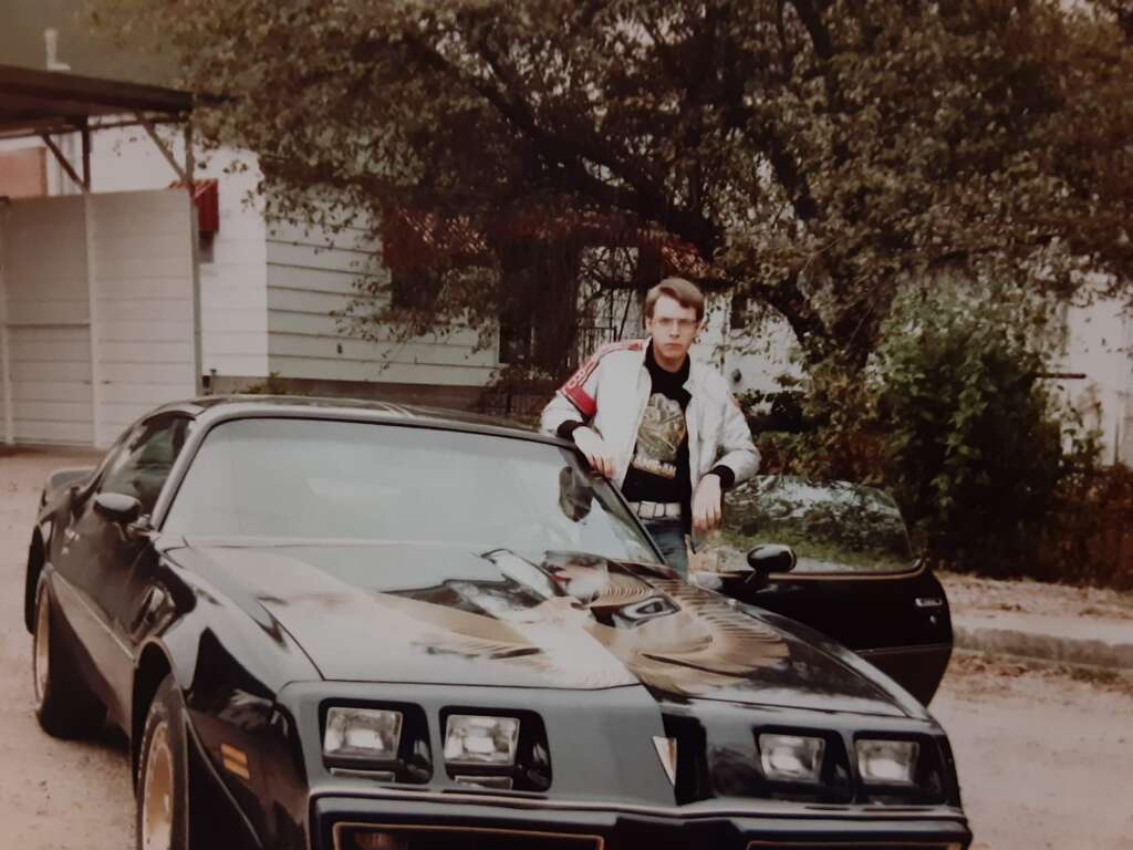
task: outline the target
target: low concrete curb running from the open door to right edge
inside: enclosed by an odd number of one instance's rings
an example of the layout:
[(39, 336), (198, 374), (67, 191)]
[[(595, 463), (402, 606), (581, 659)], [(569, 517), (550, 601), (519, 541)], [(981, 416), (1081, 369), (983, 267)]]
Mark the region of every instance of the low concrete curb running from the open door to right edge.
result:
[(1008, 623), (996, 619), (953, 617), (953, 641), (957, 649), (972, 649), (993, 655), (1015, 655), (1062, 664), (1088, 664), (1133, 671), (1133, 623), (1084, 623), (1087, 634), (1055, 634), (1043, 623)]

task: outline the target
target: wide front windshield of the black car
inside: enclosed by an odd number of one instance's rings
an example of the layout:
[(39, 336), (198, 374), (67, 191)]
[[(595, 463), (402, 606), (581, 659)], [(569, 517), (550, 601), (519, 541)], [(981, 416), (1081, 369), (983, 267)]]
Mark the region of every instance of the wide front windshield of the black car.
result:
[(657, 563), (573, 452), (458, 431), (236, 419), (205, 437), (164, 530), (194, 537), (442, 544)]

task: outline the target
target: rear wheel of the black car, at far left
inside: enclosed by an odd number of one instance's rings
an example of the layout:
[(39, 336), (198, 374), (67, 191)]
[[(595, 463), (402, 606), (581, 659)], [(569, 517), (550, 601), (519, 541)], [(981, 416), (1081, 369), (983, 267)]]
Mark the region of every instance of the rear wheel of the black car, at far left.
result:
[(78, 675), (75, 657), (67, 651), (58, 627), (59, 614), (51, 604), (46, 579), (41, 577), (32, 632), (35, 716), (53, 738), (87, 738), (102, 729), (107, 709)]

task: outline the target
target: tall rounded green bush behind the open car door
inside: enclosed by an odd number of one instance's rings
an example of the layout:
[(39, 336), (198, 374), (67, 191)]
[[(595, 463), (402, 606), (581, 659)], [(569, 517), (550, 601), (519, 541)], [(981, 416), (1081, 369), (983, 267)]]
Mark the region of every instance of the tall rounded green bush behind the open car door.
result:
[(928, 550), (1002, 575), (1033, 558), (1094, 445), (1043, 377), (1045, 305), (1007, 288), (900, 299), (878, 351), (888, 479)]

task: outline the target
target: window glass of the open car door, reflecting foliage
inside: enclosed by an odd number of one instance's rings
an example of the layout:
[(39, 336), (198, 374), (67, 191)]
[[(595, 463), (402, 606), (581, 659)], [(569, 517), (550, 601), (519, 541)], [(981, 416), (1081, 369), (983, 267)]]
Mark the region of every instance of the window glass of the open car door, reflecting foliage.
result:
[(901, 511), (880, 490), (764, 475), (741, 493), (746, 542), (791, 546), (795, 572), (896, 572), (912, 566)]

